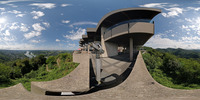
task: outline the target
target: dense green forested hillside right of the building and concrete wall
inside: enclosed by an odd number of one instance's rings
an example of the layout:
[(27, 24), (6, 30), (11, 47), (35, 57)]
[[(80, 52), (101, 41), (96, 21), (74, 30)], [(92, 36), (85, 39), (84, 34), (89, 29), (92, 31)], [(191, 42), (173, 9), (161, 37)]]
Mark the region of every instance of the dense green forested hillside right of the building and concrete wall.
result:
[(200, 88), (200, 50), (143, 49), (147, 69), (157, 82), (177, 89)]

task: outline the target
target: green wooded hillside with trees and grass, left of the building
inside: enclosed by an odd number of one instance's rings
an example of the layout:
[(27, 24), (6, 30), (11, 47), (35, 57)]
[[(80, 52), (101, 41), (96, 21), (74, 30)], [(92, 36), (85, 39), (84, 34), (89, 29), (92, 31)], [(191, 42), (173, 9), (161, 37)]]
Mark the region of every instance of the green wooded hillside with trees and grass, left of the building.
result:
[(36, 55), (32, 58), (25, 52), (0, 50), (0, 88), (22, 83), (30, 90), (31, 81), (61, 78), (78, 65), (72, 62), (72, 51), (31, 51)]

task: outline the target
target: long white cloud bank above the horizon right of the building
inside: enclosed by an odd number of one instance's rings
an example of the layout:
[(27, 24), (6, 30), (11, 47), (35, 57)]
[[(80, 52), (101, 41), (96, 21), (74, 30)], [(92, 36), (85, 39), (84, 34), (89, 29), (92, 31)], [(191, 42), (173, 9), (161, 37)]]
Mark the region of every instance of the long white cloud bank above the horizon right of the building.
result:
[[(154, 35), (145, 46), (153, 48), (183, 48), (183, 49), (200, 49), (200, 44), (197, 42), (187, 41), (190, 38), (183, 38), (182, 40), (171, 40), (169, 38), (162, 38), (161, 35)], [(198, 40), (199, 38), (196, 38)]]

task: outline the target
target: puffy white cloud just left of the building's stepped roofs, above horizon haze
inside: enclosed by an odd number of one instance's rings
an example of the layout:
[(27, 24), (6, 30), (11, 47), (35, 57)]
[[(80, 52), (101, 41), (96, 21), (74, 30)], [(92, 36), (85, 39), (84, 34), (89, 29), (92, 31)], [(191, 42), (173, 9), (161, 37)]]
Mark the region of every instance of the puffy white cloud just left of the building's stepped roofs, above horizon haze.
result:
[(65, 35), (64, 37), (71, 40), (78, 40), (86, 33), (86, 29), (79, 28), (77, 31), (72, 30), (69, 33), (71, 33), (71, 35)]

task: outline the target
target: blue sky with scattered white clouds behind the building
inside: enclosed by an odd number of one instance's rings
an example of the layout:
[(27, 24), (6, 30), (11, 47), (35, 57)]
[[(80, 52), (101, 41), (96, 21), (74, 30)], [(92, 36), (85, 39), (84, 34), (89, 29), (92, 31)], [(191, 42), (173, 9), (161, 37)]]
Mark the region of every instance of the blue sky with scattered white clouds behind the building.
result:
[(86, 28), (107, 13), (132, 7), (161, 9), (153, 48), (200, 49), (198, 0), (1, 0), (0, 49), (76, 50)]

